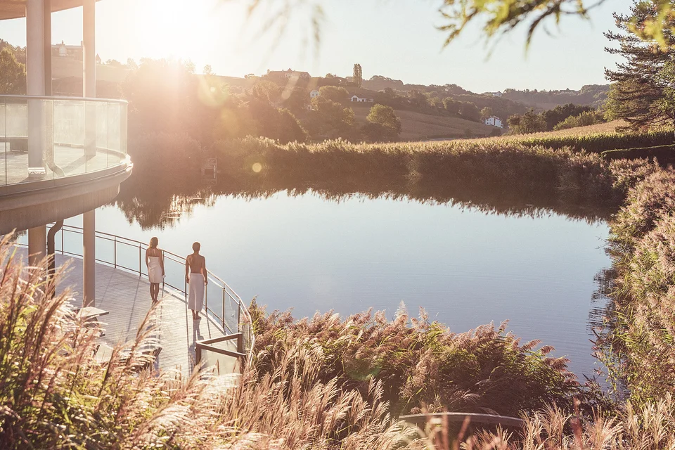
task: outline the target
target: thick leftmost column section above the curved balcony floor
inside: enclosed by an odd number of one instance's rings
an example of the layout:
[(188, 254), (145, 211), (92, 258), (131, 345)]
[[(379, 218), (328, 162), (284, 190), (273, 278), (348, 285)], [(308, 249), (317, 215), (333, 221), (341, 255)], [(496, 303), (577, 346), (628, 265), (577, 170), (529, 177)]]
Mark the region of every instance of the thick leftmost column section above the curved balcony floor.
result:
[[(29, 96), (44, 96), (44, 3), (26, 3), (26, 72)], [(28, 100), (28, 175), (44, 176), (45, 104)]]

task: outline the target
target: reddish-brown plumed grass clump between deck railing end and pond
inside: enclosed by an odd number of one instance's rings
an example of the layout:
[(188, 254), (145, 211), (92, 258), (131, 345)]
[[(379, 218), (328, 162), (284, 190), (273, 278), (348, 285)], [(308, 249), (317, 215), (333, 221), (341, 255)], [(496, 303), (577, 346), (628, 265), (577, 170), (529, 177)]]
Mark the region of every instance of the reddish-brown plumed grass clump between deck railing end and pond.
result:
[[(393, 321), (381, 311), (295, 321), (288, 312), (264, 316), (255, 306), (252, 316), (259, 376), (274, 373), (286, 349), (300, 345), (321, 355), (316, 377), (323, 383), (359, 392), (379, 383), (394, 414), (449, 409), (518, 416), (551, 402), (570, 406), (581, 393), (566, 359), (548, 356), (552, 347), (539, 341), (521, 344), (506, 324), (452, 333), (404, 309)], [(296, 364), (306, 370), (302, 360)]]

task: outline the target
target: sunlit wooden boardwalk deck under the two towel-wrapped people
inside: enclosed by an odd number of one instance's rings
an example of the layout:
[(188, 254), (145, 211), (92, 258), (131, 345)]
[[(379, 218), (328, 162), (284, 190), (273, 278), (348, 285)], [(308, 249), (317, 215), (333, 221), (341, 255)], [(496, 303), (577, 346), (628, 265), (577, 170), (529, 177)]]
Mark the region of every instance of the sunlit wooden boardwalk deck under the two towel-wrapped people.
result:
[[(19, 251), (27, 255), (25, 248)], [(56, 255), (57, 266), (66, 263), (68, 273), (57, 291), (70, 288), (72, 302), (77, 308), (82, 305), (82, 259)], [(156, 338), (162, 347), (155, 367), (162, 371), (177, 369), (188, 375), (195, 366), (195, 342), (221, 338), (225, 334), (219, 324), (205, 316), (203, 311), (201, 319), (193, 321), (182, 293), (160, 286), (159, 298), (158, 307), (150, 315), (154, 327), (150, 337)], [(96, 307), (110, 313), (98, 319), (105, 329), (101, 342), (114, 347), (134, 340), (151, 304), (150, 283), (145, 276), (96, 264)], [(228, 341), (224, 345), (224, 348), (236, 351), (236, 341)], [(220, 373), (238, 370), (236, 359), (229, 356), (219, 358), (219, 364)]]

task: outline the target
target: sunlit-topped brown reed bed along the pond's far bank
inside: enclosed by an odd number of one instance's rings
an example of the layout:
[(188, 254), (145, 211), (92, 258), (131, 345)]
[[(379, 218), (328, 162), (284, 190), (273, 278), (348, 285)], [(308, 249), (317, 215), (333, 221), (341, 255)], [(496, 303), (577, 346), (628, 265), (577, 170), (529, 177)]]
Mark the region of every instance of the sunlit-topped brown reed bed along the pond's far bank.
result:
[(610, 162), (598, 155), (553, 150), (522, 143), (427, 142), (280, 145), (271, 139), (220, 141), (225, 181), (260, 181), (323, 188), (338, 185), (414, 195), (440, 192), (446, 197), (470, 191), (501, 195), (522, 203), (560, 203), (607, 207), (625, 193), (615, 185)]

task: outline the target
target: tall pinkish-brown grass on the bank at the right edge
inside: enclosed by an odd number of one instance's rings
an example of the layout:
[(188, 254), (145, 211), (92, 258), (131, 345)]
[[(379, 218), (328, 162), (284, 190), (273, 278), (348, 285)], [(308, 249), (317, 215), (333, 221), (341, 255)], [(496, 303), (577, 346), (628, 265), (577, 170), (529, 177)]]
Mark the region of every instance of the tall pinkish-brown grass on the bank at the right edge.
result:
[(618, 278), (605, 345), (636, 404), (675, 392), (675, 173), (657, 169), (628, 193), (612, 223)]

